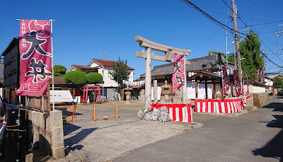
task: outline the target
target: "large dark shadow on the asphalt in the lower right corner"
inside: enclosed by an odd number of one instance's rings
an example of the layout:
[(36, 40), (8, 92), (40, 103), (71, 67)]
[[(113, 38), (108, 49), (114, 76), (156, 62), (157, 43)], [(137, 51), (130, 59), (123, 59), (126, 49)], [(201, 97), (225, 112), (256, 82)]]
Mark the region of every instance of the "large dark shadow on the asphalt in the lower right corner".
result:
[[(273, 115), (276, 120), (270, 121), (267, 127), (283, 128), (283, 115)], [(283, 129), (260, 149), (253, 150), (253, 155), (276, 158), (283, 162)]]

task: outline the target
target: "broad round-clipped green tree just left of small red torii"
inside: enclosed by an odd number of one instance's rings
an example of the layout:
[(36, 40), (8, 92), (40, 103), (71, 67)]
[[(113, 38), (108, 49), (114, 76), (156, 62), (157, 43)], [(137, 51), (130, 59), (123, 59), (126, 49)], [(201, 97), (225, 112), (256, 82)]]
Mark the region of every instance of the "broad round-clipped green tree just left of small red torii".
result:
[(86, 74), (81, 70), (69, 71), (64, 75), (64, 82), (73, 85), (73, 98), (75, 96), (76, 86), (86, 84)]

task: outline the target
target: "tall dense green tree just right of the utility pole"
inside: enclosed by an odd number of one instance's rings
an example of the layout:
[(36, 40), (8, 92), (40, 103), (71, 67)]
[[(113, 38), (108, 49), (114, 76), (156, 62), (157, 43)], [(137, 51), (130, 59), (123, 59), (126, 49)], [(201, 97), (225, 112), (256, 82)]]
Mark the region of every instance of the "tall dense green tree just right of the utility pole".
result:
[(248, 77), (253, 78), (255, 71), (265, 65), (262, 54), (260, 53), (261, 42), (258, 39), (258, 35), (250, 30), (250, 34), (245, 40), (240, 42), (240, 54), (242, 70), (248, 71)]

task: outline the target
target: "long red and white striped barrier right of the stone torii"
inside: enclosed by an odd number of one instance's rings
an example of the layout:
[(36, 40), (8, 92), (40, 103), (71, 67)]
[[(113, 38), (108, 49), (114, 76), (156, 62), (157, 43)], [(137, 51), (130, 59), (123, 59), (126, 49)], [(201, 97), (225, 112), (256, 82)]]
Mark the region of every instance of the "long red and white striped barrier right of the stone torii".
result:
[(242, 110), (241, 98), (231, 100), (195, 100), (195, 112), (234, 113)]

